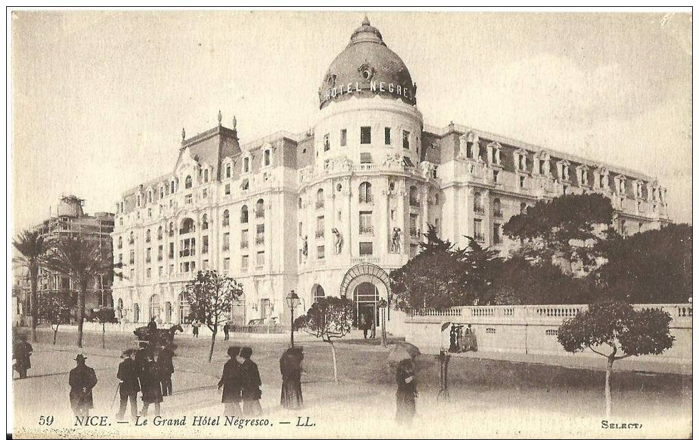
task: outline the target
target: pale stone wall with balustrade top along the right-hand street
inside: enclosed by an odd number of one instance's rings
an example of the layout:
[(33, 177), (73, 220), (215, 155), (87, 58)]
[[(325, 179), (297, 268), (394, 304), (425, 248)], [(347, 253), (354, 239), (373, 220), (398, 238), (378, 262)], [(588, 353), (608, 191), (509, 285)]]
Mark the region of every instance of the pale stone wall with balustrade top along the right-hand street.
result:
[[(564, 320), (585, 310), (584, 304), (559, 306), (464, 306), (447, 309), (426, 308), (407, 315), (403, 325), (396, 325), (405, 340), (418, 346), (422, 353), (439, 353), (449, 347), (449, 328), (445, 322), (471, 325), (478, 349), (507, 353), (571, 355), (556, 338)], [(660, 308), (672, 317), (670, 334), (675, 343), (659, 356), (642, 356), (663, 362), (691, 363), (692, 304), (642, 304), (635, 308)], [(593, 355), (589, 350), (583, 352)]]

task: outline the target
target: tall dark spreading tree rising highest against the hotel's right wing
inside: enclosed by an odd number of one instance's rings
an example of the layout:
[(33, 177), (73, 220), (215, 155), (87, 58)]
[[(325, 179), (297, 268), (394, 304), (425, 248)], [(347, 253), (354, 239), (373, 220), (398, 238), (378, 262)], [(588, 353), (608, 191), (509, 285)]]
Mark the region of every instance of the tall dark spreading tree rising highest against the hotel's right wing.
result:
[(595, 246), (612, 225), (614, 208), (602, 194), (569, 194), (538, 201), (503, 226), (511, 239), (528, 245), (528, 256), (537, 260), (565, 261), (584, 269), (596, 264)]

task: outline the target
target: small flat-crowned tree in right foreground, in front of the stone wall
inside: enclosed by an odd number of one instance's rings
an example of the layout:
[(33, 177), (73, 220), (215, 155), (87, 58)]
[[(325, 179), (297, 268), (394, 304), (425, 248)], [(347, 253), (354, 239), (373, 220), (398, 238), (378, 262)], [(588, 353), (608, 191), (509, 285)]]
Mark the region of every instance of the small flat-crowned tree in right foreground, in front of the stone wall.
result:
[[(635, 311), (621, 301), (590, 304), (586, 311), (563, 322), (558, 339), (565, 351), (589, 348), (607, 358), (605, 410), (612, 413), (610, 379), (614, 361), (630, 356), (659, 355), (672, 347), (670, 315), (657, 308)], [(621, 354), (620, 354), (621, 353)]]

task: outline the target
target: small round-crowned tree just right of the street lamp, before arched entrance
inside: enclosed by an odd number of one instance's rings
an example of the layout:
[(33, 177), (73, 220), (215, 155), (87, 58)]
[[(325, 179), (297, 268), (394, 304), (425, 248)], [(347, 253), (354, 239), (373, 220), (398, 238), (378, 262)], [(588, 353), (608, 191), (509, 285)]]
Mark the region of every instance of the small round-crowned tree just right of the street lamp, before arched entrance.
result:
[(322, 339), (330, 344), (333, 352), (333, 377), (338, 383), (338, 358), (335, 353), (333, 339), (340, 339), (352, 330), (354, 318), (354, 301), (347, 298), (319, 298), (308, 312), (296, 318), (295, 329), (303, 329), (308, 334)]

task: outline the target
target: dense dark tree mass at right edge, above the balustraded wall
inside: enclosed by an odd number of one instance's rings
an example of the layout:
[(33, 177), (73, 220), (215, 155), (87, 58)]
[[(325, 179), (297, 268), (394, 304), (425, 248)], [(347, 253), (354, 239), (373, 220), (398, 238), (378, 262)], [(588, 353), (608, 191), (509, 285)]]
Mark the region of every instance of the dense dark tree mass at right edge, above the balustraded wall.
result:
[(684, 303), (692, 296), (691, 225), (615, 236), (599, 248), (607, 262), (597, 276), (608, 296), (651, 304)]

